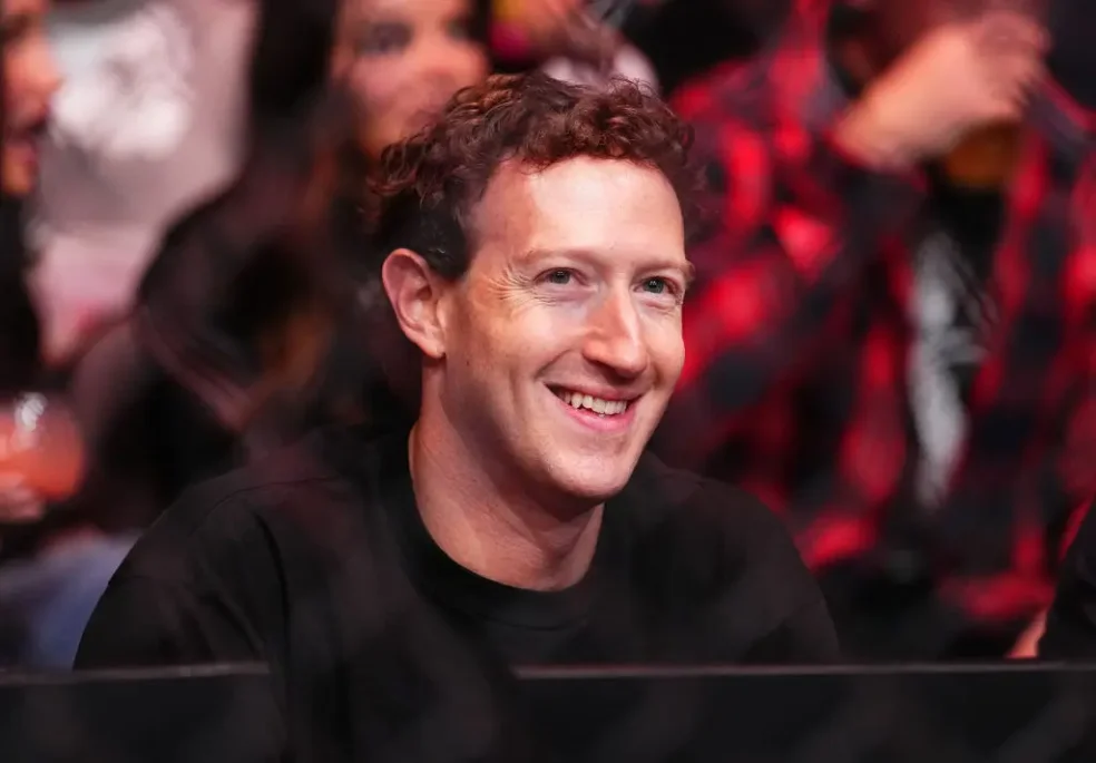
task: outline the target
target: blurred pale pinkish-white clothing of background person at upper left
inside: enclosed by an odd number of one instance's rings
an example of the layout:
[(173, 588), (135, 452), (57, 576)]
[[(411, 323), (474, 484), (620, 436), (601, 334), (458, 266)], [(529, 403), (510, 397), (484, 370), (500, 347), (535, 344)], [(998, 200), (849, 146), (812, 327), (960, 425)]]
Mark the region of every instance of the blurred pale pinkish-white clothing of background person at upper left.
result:
[(42, 153), (31, 285), (71, 362), (133, 305), (168, 226), (239, 169), (252, 0), (61, 0), (66, 84)]

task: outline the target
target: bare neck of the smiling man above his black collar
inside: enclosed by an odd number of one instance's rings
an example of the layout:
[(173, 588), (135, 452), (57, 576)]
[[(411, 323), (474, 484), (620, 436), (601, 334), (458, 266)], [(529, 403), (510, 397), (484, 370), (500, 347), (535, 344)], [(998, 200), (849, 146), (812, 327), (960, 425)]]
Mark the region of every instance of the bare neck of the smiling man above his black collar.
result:
[(409, 458), (415, 502), (434, 542), (462, 567), (516, 588), (578, 583), (593, 561), (604, 507), (575, 511), (567, 501), (552, 506), (507, 485), (428, 408), (411, 432)]

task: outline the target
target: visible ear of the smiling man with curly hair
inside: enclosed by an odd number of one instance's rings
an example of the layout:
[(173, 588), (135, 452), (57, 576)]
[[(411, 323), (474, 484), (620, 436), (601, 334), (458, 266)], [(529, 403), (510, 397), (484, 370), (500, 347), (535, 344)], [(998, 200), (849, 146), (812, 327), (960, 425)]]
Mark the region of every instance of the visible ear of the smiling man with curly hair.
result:
[(381, 281), (404, 335), (427, 358), (444, 358), (444, 331), (439, 304), (444, 285), (441, 276), (421, 256), (401, 248), (384, 260)]

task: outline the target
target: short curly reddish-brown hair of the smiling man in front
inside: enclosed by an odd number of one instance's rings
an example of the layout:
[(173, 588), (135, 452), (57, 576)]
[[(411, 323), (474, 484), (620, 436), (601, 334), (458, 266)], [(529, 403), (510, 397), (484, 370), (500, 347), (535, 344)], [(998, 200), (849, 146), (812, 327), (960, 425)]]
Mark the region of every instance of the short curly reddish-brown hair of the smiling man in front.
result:
[(619, 80), (606, 89), (541, 72), (497, 75), (457, 94), (441, 118), (386, 148), (372, 179), (374, 241), (382, 255), (407, 247), (447, 278), (474, 250), (469, 212), (505, 162), (544, 169), (578, 156), (658, 169), (688, 224), (697, 175), (692, 130), (656, 96)]

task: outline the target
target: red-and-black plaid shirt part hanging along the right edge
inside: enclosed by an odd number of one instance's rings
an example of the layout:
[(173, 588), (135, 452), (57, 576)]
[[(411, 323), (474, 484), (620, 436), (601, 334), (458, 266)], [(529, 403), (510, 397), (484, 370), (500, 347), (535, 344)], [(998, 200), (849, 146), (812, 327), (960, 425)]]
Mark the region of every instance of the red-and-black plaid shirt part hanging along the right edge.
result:
[(1031, 139), (1011, 194), (1001, 331), (940, 512), (959, 563), (945, 595), (978, 620), (1046, 607), (1077, 507), (1096, 492), (1096, 131), (1060, 98), (1051, 88), (1043, 102), (1057, 127)]

